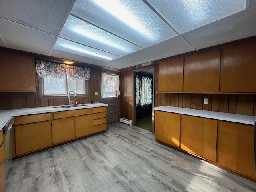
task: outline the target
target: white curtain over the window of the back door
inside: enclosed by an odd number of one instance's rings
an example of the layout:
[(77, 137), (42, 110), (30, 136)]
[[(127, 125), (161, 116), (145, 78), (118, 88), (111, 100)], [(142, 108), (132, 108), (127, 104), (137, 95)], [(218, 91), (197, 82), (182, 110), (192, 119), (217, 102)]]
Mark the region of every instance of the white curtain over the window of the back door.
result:
[(119, 76), (111, 74), (101, 74), (101, 98), (117, 97), (119, 91)]

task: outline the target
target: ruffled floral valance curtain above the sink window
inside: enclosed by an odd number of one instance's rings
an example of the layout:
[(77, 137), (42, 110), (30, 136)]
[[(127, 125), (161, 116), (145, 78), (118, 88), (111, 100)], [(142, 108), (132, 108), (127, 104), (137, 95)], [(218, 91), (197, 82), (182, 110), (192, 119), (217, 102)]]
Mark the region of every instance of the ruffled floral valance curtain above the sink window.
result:
[(90, 69), (66, 64), (56, 64), (43, 60), (36, 60), (36, 72), (41, 77), (63, 78), (67, 74), (72, 79), (90, 79)]

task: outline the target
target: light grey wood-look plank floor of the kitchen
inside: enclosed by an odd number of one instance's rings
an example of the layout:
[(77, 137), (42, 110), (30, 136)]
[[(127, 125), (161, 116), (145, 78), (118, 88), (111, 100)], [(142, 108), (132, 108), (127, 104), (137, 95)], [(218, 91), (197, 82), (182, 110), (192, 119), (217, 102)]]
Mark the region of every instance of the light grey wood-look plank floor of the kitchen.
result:
[(14, 160), (6, 192), (255, 192), (256, 183), (115, 123), (104, 134)]

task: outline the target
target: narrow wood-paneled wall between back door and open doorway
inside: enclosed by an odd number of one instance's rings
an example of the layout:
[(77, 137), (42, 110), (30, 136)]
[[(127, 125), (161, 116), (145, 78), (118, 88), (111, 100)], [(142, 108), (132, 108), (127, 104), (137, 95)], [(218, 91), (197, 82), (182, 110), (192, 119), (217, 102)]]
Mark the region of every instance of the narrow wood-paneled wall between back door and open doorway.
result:
[(120, 72), (120, 117), (132, 120), (134, 94), (134, 72), (127, 70)]

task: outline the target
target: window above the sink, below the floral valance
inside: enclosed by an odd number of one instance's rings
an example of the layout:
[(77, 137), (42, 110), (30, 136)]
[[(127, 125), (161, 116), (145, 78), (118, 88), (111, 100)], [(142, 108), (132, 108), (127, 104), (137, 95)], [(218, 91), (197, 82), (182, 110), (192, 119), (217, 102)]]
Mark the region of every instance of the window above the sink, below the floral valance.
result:
[(88, 93), (88, 81), (72, 79), (65, 75), (64, 78), (40, 77), (41, 94), (40, 96), (63, 96), (68, 92), (74, 91), (76, 94), (86, 95)]

